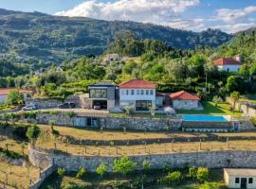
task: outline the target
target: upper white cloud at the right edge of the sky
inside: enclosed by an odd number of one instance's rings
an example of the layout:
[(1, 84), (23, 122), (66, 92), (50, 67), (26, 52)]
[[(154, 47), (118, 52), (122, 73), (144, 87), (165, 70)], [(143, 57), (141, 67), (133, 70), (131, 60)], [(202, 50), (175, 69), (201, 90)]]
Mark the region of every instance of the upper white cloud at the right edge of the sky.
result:
[(256, 12), (255, 6), (249, 6), (245, 9), (217, 9), (217, 15), (214, 17), (214, 20), (235, 23), (253, 12)]

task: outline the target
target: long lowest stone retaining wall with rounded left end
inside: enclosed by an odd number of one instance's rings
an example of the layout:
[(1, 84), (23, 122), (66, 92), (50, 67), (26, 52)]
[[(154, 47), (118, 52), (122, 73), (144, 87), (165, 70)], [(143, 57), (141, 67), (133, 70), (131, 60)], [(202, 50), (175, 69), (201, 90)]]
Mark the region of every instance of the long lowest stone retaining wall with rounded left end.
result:
[[(142, 169), (142, 163), (147, 160), (151, 163), (151, 168), (161, 169), (165, 166), (180, 168), (184, 166), (204, 166), (209, 168), (223, 167), (248, 167), (256, 168), (256, 151), (202, 151), (191, 153), (173, 154), (149, 154), (129, 156), (137, 162), (137, 169)], [(42, 163), (55, 163), (58, 167), (64, 167), (67, 171), (77, 171), (81, 166), (90, 172), (95, 172), (101, 163), (105, 163), (107, 171), (112, 172), (114, 160), (120, 157), (100, 157), (100, 156), (71, 156), (56, 153), (45, 153), (41, 149), (29, 147), (28, 158), (35, 166)]]

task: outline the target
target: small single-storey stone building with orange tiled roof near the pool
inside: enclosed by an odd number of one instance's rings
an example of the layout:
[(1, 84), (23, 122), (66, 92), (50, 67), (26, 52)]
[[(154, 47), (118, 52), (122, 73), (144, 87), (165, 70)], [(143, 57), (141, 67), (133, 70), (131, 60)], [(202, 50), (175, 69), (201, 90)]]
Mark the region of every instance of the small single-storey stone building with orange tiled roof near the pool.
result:
[(196, 110), (200, 108), (200, 98), (196, 94), (180, 91), (170, 94), (170, 97), (176, 110)]

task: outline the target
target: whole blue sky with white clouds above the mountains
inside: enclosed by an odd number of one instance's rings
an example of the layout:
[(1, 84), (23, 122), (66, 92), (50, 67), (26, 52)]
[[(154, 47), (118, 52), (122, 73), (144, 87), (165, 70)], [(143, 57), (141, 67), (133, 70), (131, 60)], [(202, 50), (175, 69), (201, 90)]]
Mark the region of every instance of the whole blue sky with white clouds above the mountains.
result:
[(0, 0), (0, 8), (229, 33), (256, 26), (256, 0)]

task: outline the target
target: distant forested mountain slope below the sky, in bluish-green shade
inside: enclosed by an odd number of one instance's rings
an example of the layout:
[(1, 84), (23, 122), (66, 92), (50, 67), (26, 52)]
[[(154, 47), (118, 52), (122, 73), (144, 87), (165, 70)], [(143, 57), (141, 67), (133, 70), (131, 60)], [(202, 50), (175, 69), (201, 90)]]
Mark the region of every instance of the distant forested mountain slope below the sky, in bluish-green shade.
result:
[(0, 60), (46, 67), (82, 55), (100, 55), (115, 33), (131, 30), (139, 39), (156, 39), (181, 49), (196, 45), (216, 47), (231, 35), (208, 29), (192, 32), (135, 22), (68, 18), (41, 12), (0, 9)]

